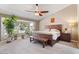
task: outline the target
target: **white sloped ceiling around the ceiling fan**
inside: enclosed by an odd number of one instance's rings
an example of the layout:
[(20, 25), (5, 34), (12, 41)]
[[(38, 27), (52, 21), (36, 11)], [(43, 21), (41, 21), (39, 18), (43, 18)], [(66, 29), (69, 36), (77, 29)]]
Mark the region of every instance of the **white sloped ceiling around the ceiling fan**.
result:
[(30, 20), (41, 20), (53, 13), (69, 6), (69, 4), (39, 4), (42, 10), (48, 10), (44, 16), (35, 16), (34, 13), (25, 10), (35, 10), (34, 4), (0, 4), (0, 13), (16, 15)]

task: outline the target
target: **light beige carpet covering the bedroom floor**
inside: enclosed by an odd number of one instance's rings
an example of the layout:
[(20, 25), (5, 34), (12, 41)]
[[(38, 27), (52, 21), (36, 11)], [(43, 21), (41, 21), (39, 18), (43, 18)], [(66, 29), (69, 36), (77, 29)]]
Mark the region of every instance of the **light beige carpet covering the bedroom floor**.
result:
[(61, 43), (53, 47), (42, 48), (39, 43), (30, 43), (29, 39), (15, 40), (11, 43), (0, 46), (0, 54), (76, 54), (79, 49), (72, 48)]

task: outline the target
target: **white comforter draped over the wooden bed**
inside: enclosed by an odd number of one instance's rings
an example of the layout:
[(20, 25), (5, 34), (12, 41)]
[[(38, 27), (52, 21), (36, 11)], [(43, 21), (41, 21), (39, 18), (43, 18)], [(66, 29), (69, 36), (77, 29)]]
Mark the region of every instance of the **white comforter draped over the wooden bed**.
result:
[(53, 40), (57, 40), (57, 38), (60, 36), (60, 31), (58, 31), (58, 30), (51, 30), (51, 31), (34, 31), (33, 33), (52, 35), (52, 39), (53, 39)]

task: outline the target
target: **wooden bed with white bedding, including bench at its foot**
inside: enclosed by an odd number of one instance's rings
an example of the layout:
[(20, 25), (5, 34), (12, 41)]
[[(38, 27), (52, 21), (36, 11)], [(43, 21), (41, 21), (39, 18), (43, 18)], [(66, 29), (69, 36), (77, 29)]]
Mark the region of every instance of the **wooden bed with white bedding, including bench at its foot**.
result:
[(42, 41), (43, 47), (45, 47), (45, 44), (53, 46), (61, 36), (62, 25), (47, 25), (46, 28), (49, 30), (33, 31), (34, 40)]

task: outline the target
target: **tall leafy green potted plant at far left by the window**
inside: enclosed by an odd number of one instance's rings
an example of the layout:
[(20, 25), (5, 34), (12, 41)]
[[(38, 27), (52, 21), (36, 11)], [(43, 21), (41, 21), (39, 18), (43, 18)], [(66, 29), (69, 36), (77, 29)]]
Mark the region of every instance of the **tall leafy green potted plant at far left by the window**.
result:
[(16, 16), (10, 16), (4, 18), (3, 24), (7, 31), (8, 38), (10, 39), (9, 41), (7, 41), (7, 43), (11, 42), (11, 40), (13, 39), (13, 32), (14, 32), (16, 20), (17, 20)]

